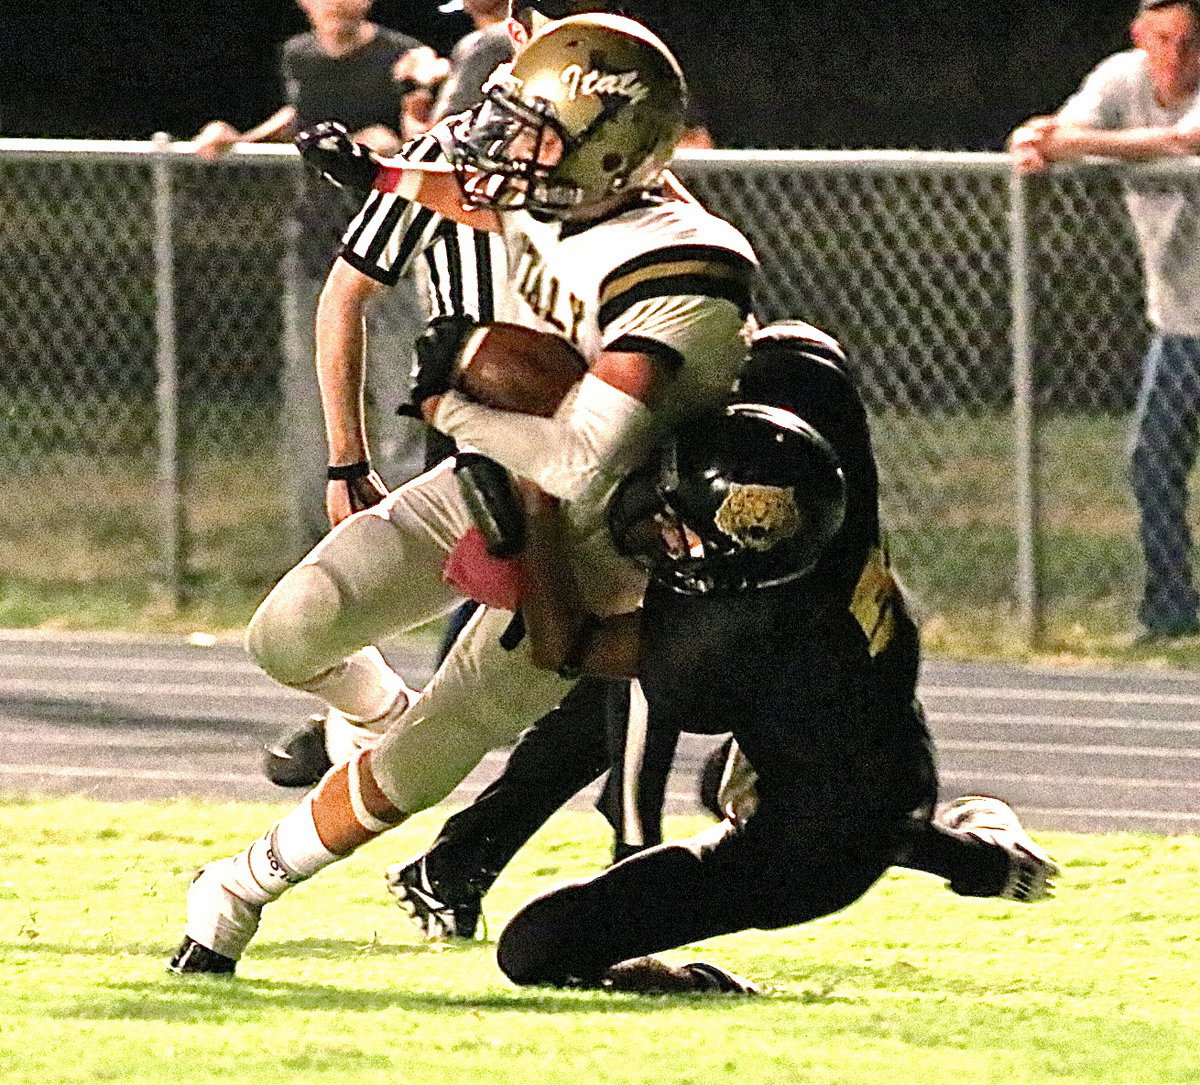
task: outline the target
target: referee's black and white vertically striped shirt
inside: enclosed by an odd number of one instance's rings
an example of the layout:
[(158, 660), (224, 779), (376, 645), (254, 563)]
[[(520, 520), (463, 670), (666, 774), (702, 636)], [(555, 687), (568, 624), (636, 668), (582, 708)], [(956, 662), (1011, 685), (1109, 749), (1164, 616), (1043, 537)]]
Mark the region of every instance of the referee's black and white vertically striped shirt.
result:
[[(445, 124), (406, 144), (396, 157), (445, 161), (437, 137)], [(498, 235), (461, 226), (382, 187), (371, 191), (347, 228), (341, 257), (388, 286), (395, 286), (421, 257), (431, 318), (467, 316), (486, 323), (508, 308), (506, 262)]]

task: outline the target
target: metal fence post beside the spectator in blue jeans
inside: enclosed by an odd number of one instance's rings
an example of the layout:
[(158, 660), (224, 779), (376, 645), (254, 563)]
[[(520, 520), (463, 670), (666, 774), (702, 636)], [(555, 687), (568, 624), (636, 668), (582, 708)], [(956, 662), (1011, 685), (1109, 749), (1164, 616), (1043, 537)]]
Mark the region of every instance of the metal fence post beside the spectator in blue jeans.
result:
[(1013, 337), (1013, 466), (1016, 475), (1016, 603), (1025, 641), (1042, 640), (1038, 556), (1038, 439), (1033, 383), (1028, 187), (1015, 167), (1009, 170), (1009, 302)]

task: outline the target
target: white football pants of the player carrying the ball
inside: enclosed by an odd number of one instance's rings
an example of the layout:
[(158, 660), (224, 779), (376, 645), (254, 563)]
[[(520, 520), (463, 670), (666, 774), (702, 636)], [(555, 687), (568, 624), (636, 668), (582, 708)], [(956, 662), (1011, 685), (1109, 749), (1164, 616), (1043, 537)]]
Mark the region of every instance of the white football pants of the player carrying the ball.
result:
[[(630, 610), (643, 582), (612, 551), (601, 517), (594, 520), (572, 547), (587, 604), (600, 613)], [(353, 715), (370, 691), (338, 696), (331, 691), (344, 685), (344, 675), (328, 676), (365, 646), (460, 603), (442, 568), (470, 526), (446, 461), (338, 524), (284, 575), (251, 619), (250, 653), (276, 681)], [(414, 814), (440, 802), (488, 750), (515, 742), (570, 688), (530, 663), (528, 641), (514, 651), (500, 647), (511, 621), (509, 611), (480, 607), (421, 695), (389, 718), (371, 768), (397, 809)], [(379, 682), (368, 677), (371, 669), (354, 673), (362, 676), (355, 681)]]

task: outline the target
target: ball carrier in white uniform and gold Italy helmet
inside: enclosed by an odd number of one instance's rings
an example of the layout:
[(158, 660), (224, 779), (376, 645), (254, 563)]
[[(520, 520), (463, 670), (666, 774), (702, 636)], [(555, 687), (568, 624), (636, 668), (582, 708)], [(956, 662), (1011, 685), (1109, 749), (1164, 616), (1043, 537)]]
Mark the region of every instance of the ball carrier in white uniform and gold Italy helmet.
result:
[[(380, 202), (395, 193), (500, 230), (515, 319), (582, 350), (588, 372), (551, 418), (469, 401), (450, 390), (448, 365), (418, 373), (414, 403), (437, 428), (562, 500), (565, 550), (599, 616), (631, 610), (643, 588), (612, 547), (608, 497), (667, 427), (728, 395), (752, 326), (745, 239), (694, 203), (652, 194), (684, 110), (683, 77), (658, 38), (629, 19), (577, 16), (535, 35), (456, 127), (454, 173), (397, 163), (377, 179)], [(360, 410), (361, 324), (346, 313), (356, 292), (374, 288), (360, 280), (371, 283), (340, 259), (318, 316), (331, 464), (342, 479), (366, 458), (361, 430), (348, 425)], [(247, 643), (277, 681), (383, 735), (260, 839), (202, 869), (175, 971), (232, 972), (265, 904), (439, 802), (576, 677), (572, 666), (535, 667), (526, 642), (504, 637), (512, 613), (484, 606), (426, 689), (408, 689), (362, 649), (458, 601), (443, 567), (473, 521), (451, 464), (355, 515), (338, 516), (332, 484), (330, 497), (338, 527), (268, 595)]]

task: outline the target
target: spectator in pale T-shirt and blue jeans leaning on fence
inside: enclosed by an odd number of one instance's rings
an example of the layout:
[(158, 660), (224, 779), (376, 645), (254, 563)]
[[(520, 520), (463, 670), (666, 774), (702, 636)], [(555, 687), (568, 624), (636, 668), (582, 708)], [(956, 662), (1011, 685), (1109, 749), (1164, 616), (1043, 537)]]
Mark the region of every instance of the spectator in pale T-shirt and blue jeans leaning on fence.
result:
[[(1200, 0), (1141, 0), (1134, 48), (1103, 60), (1054, 116), (1012, 136), (1016, 168), (1100, 155), (1148, 161), (1200, 150)], [(1140, 641), (1200, 633), (1192, 576), (1188, 475), (1200, 422), (1200, 206), (1194, 186), (1132, 179), (1152, 326), (1130, 466), (1146, 583)]]

